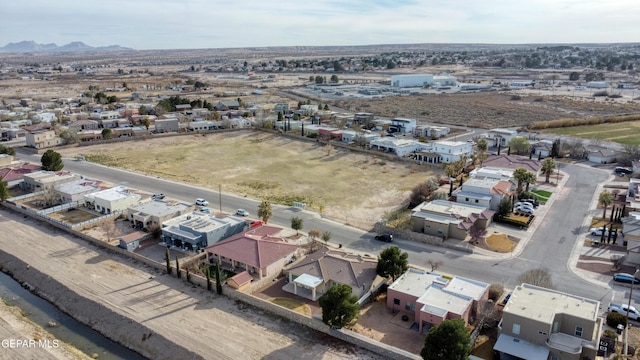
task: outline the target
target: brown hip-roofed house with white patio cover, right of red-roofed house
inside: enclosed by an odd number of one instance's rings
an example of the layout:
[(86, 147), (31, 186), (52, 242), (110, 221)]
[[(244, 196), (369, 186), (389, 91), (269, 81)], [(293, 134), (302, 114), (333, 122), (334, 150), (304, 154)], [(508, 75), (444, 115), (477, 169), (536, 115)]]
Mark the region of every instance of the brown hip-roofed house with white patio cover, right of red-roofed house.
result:
[(323, 247), (284, 270), (288, 282), (283, 290), (316, 301), (331, 286), (344, 284), (361, 299), (380, 283), (377, 263), (375, 258)]

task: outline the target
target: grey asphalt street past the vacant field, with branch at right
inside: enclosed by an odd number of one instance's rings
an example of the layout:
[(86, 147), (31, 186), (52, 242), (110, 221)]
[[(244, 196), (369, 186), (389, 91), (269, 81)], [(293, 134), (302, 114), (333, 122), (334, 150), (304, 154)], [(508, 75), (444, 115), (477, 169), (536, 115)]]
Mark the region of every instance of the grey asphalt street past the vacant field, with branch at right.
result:
[[(40, 160), (39, 155), (20, 154), (20, 157), (36, 163)], [(86, 161), (64, 159), (64, 163), (66, 170), (89, 178), (102, 179), (150, 193), (164, 193), (187, 203), (193, 203), (195, 198), (202, 197), (209, 200), (209, 207), (215, 210), (219, 209), (221, 203), (224, 212), (232, 213), (242, 208), (249, 211), (253, 217), (257, 212), (258, 201), (227, 194), (224, 188), (220, 196), (217, 190), (203, 189)], [(429, 260), (440, 261), (441, 265), (438, 269), (444, 273), (499, 283), (509, 288), (518, 285), (516, 278), (522, 272), (534, 268), (546, 268), (552, 274), (556, 286), (563, 291), (603, 300), (603, 302), (609, 301), (612, 296), (611, 288), (597, 287), (580, 279), (569, 271), (567, 261), (578, 241), (578, 236), (586, 231), (583, 228), (583, 222), (589, 215), (588, 209), (596, 187), (605, 181), (610, 173), (583, 165), (561, 164), (560, 166), (562, 171), (569, 175), (565, 187), (559, 193), (554, 193), (554, 196), (557, 196), (556, 200), (550, 205), (551, 208), (546, 216), (537, 220), (540, 221), (537, 230), (518, 257), (506, 260), (481, 258), (403, 239), (394, 239), (394, 244), (409, 254), (411, 264), (429, 268)], [(342, 244), (346, 249), (377, 256), (382, 249), (389, 246), (387, 243), (373, 240), (372, 233), (345, 226), (344, 223), (323, 219), (316, 212), (287, 206), (274, 206), (274, 215), (270, 223), (289, 227), (292, 216), (303, 219), (306, 231), (312, 228), (330, 231), (333, 234), (330, 243)], [(348, 219), (346, 221), (348, 222)]]

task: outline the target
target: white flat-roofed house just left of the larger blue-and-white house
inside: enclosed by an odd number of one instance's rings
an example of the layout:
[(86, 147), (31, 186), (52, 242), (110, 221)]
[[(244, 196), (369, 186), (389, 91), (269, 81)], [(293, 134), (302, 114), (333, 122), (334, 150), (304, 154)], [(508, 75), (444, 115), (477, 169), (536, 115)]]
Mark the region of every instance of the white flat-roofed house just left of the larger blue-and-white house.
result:
[(151, 200), (130, 206), (127, 209), (127, 218), (131, 221), (131, 227), (150, 230), (191, 210), (193, 210), (191, 204), (171, 200)]

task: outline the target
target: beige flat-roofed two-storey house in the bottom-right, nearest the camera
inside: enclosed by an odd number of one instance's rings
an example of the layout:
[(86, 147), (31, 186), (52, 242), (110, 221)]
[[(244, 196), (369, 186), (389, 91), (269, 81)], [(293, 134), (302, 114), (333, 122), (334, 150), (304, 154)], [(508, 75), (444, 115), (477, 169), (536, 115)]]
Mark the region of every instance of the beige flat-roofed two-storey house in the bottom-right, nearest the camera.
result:
[(600, 302), (529, 284), (516, 286), (502, 311), (501, 359), (596, 359)]

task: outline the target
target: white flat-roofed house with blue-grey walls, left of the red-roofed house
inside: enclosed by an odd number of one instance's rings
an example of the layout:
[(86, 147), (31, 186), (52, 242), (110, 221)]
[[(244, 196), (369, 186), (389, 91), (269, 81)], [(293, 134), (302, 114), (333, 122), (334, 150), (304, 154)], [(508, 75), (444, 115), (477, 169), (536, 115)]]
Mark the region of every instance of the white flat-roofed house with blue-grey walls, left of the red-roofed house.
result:
[(187, 212), (162, 223), (162, 239), (167, 246), (199, 252), (218, 241), (246, 229), (246, 222), (236, 216), (218, 218), (199, 211)]

